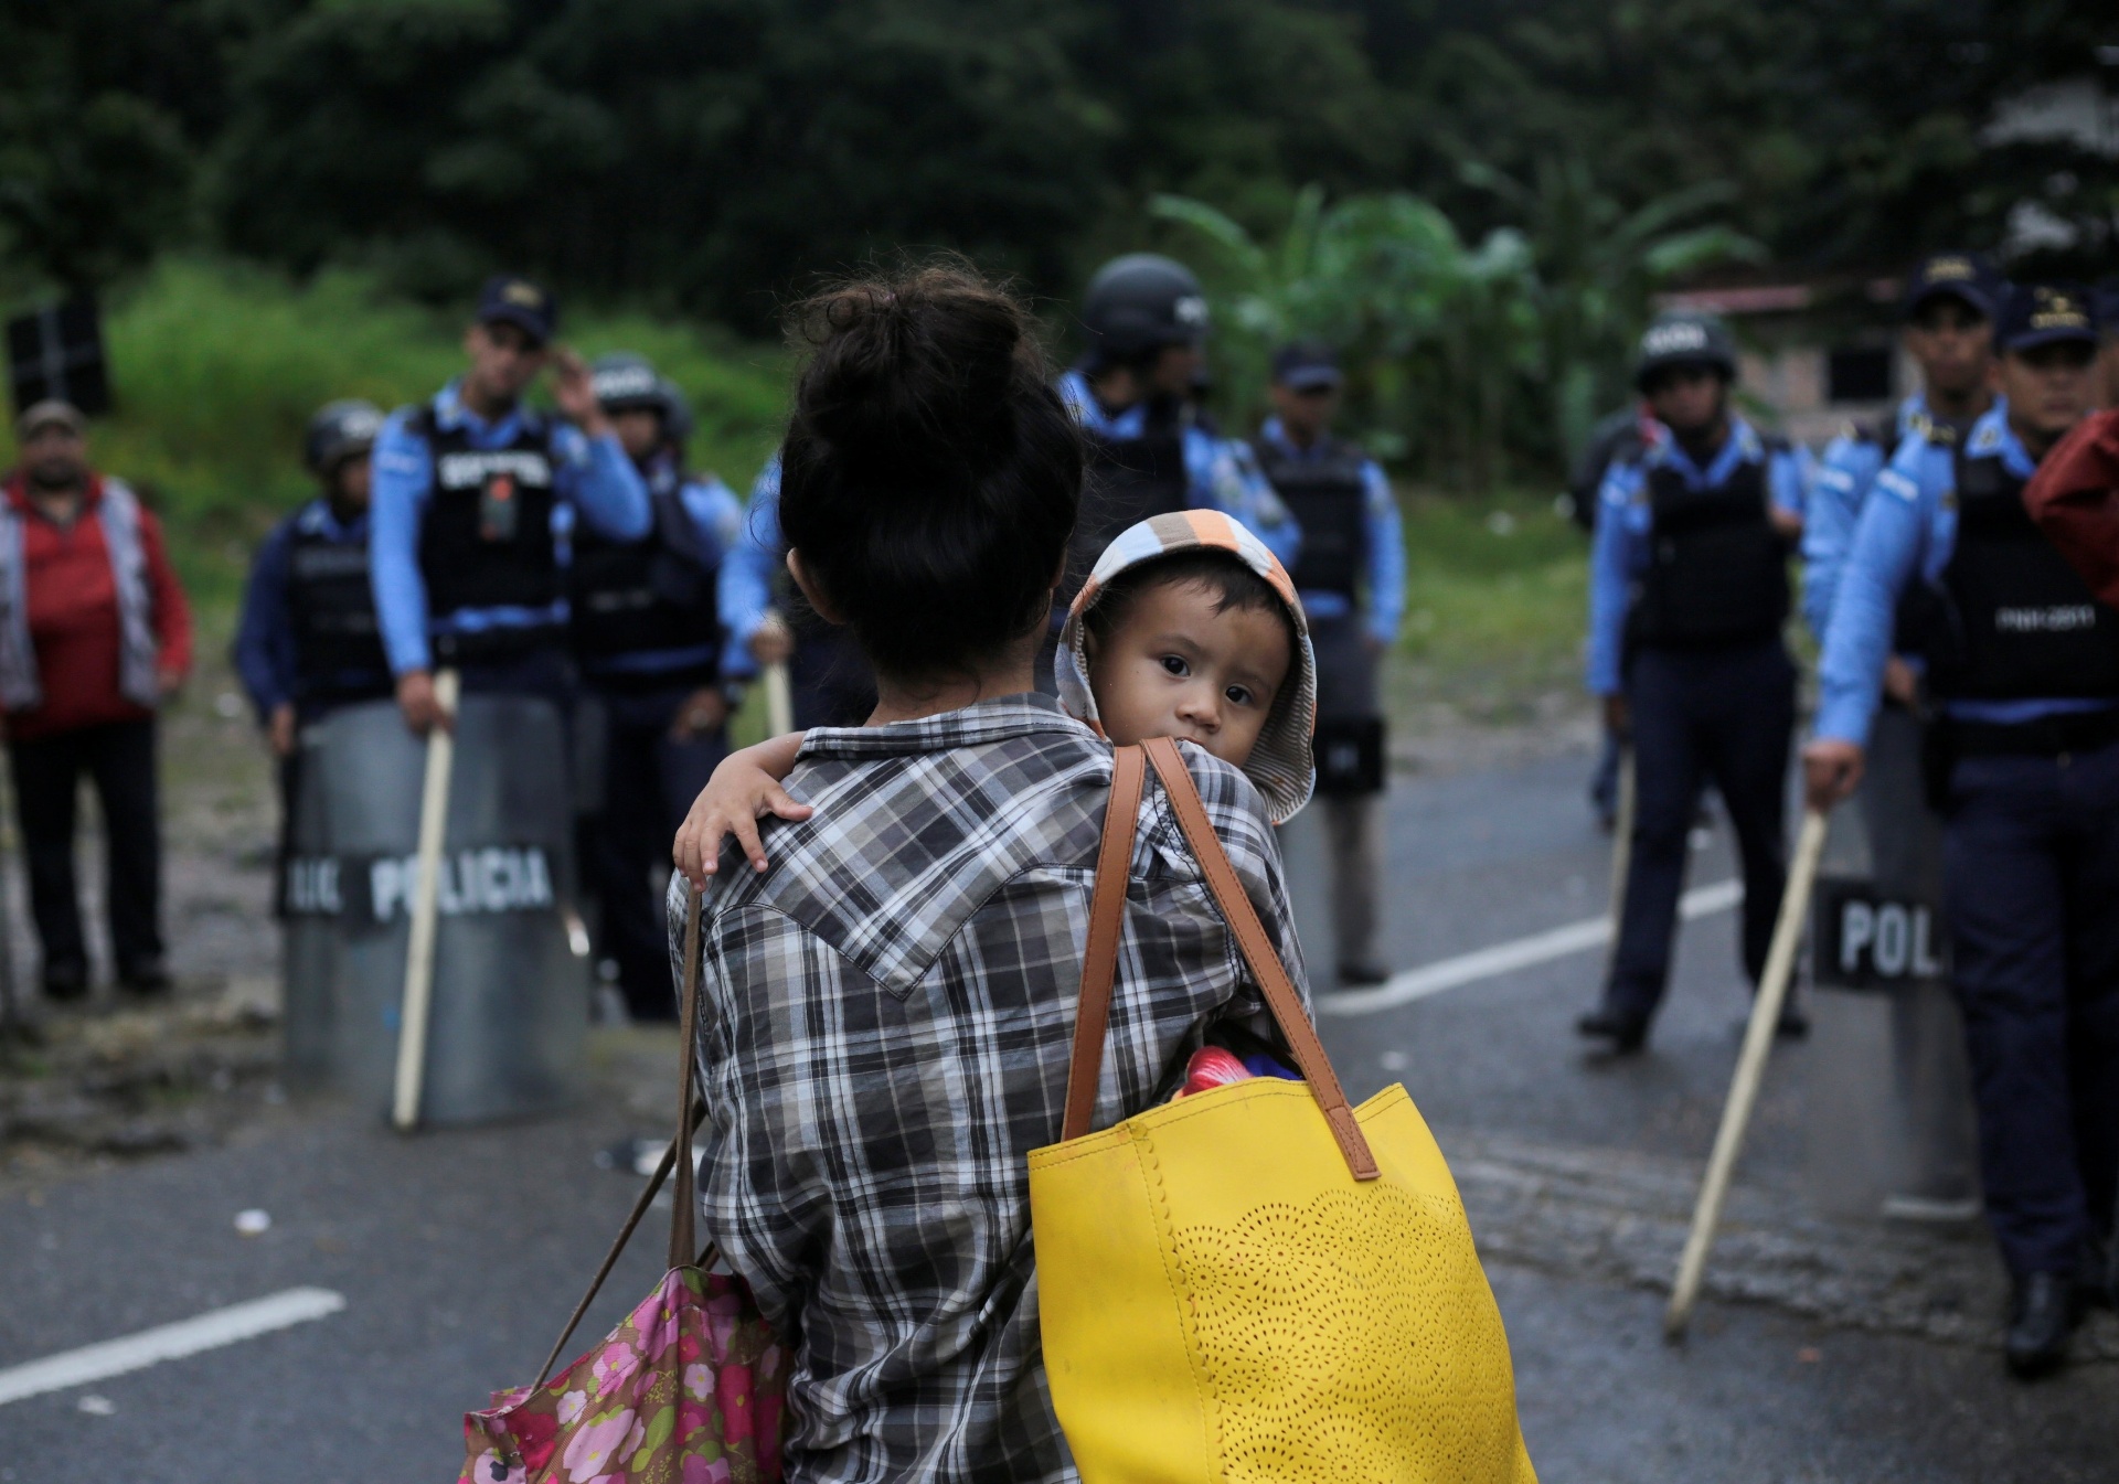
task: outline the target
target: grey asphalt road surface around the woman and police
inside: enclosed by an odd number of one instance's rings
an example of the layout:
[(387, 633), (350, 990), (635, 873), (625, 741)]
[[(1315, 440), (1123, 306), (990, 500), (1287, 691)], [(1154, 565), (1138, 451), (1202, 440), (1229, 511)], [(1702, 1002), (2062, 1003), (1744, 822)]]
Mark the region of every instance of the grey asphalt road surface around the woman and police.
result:
[[(1401, 967), (1602, 910), (1606, 849), (1581, 773), (1557, 760), (1396, 783), (1386, 919)], [(1316, 840), (1301, 824), (1288, 851), (1322, 970)], [(1727, 874), (1716, 838), (1693, 881)], [(1723, 912), (1685, 931), (1638, 1061), (1585, 1058), (1568, 1029), (1596, 993), (1593, 951), (1329, 1016), (1324, 1035), (1350, 1092), (1403, 1080), (1458, 1158), (1500, 1137), (1699, 1160), (1744, 1010), (1731, 925)], [(1816, 1046), (1776, 1056), (1742, 1171), (1791, 1209), (1816, 1058)], [(400, 1141), (350, 1109), (297, 1103), (218, 1150), (0, 1192), (0, 1370), (297, 1285), (345, 1298), (314, 1323), (0, 1406), (0, 1480), (453, 1478), (462, 1410), (528, 1380), (636, 1192), (593, 1152), (651, 1130), (610, 1099), (566, 1120)], [(271, 1228), (237, 1234), (244, 1209), (269, 1211)], [(648, 1232), (589, 1329), (659, 1266)], [(1672, 1351), (1655, 1291), (1547, 1262), (1490, 1272), (1545, 1480), (2119, 1478), (2113, 1363), (2026, 1389), (1988, 1349), (1714, 1300)]]

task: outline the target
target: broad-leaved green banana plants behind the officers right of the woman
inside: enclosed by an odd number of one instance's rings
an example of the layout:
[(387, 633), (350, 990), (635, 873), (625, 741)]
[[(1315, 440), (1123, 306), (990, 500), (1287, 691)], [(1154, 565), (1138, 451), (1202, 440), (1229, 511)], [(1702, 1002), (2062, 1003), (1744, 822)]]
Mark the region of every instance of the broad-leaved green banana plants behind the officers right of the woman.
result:
[[(1763, 248), (1695, 218), (1721, 184), (1623, 216), (1587, 167), (1543, 169), (1530, 191), (1500, 171), (1466, 178), (1526, 222), (1477, 246), (1403, 191), (1324, 205), (1307, 186), (1278, 241), (1259, 243), (1206, 201), (1159, 195), (1151, 212), (1189, 231), (1218, 332), (1216, 390), (1233, 421), (1263, 402), (1274, 349), (1322, 339), (1352, 373), (1350, 423), (1369, 449), (1426, 478), (1492, 489), (1551, 468), (1627, 396), (1653, 290)], [(1511, 457), (1513, 455), (1513, 457)]]

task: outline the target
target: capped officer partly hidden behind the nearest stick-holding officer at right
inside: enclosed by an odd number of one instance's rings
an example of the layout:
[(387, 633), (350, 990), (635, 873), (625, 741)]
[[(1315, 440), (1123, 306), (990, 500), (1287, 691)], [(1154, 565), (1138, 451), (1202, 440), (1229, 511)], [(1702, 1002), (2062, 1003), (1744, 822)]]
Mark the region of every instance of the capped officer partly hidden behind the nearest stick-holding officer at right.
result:
[[(1850, 428), (1824, 447), (1803, 512), (1803, 616), (1820, 641), (1875, 476), (1907, 440), (1954, 449), (1994, 404), (1994, 307), (2002, 288), (1986, 258), (1971, 252), (1933, 254), (1907, 275), (1903, 339), (1922, 387), (1899, 404), (1890, 423)], [(1894, 652), (1884, 665), (1863, 824), (1877, 889), (1928, 900), (1939, 891), (1941, 821), (1920, 785), (1918, 622), (1918, 605), (1899, 614)]]

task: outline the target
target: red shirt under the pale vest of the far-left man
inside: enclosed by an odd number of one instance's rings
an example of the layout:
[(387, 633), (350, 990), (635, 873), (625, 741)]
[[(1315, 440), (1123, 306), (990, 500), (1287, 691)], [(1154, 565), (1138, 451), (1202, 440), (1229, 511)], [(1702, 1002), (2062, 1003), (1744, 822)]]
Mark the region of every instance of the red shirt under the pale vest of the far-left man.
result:
[[(119, 694), (119, 589), (97, 519), (102, 476), (89, 476), (81, 514), (66, 529), (36, 508), (19, 470), (6, 481), (6, 500), (23, 517), (30, 644), (44, 686), (44, 705), (6, 716), (8, 737), (49, 737), (153, 716)], [(155, 608), (155, 669), (184, 675), (191, 669), (191, 608), (170, 567), (161, 523), (146, 510), (140, 512), (140, 546)]]

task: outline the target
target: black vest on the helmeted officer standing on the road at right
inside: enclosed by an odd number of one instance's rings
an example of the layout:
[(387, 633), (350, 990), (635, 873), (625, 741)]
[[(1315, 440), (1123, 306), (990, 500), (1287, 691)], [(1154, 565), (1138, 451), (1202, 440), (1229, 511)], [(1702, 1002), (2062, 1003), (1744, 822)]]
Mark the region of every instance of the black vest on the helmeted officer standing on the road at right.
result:
[(1788, 542), (1767, 512), (1765, 459), (1729, 481), (1689, 489), (1659, 464), (1649, 470), (1649, 572), (1627, 616), (1627, 637), (1653, 646), (1771, 639), (1788, 618)]

